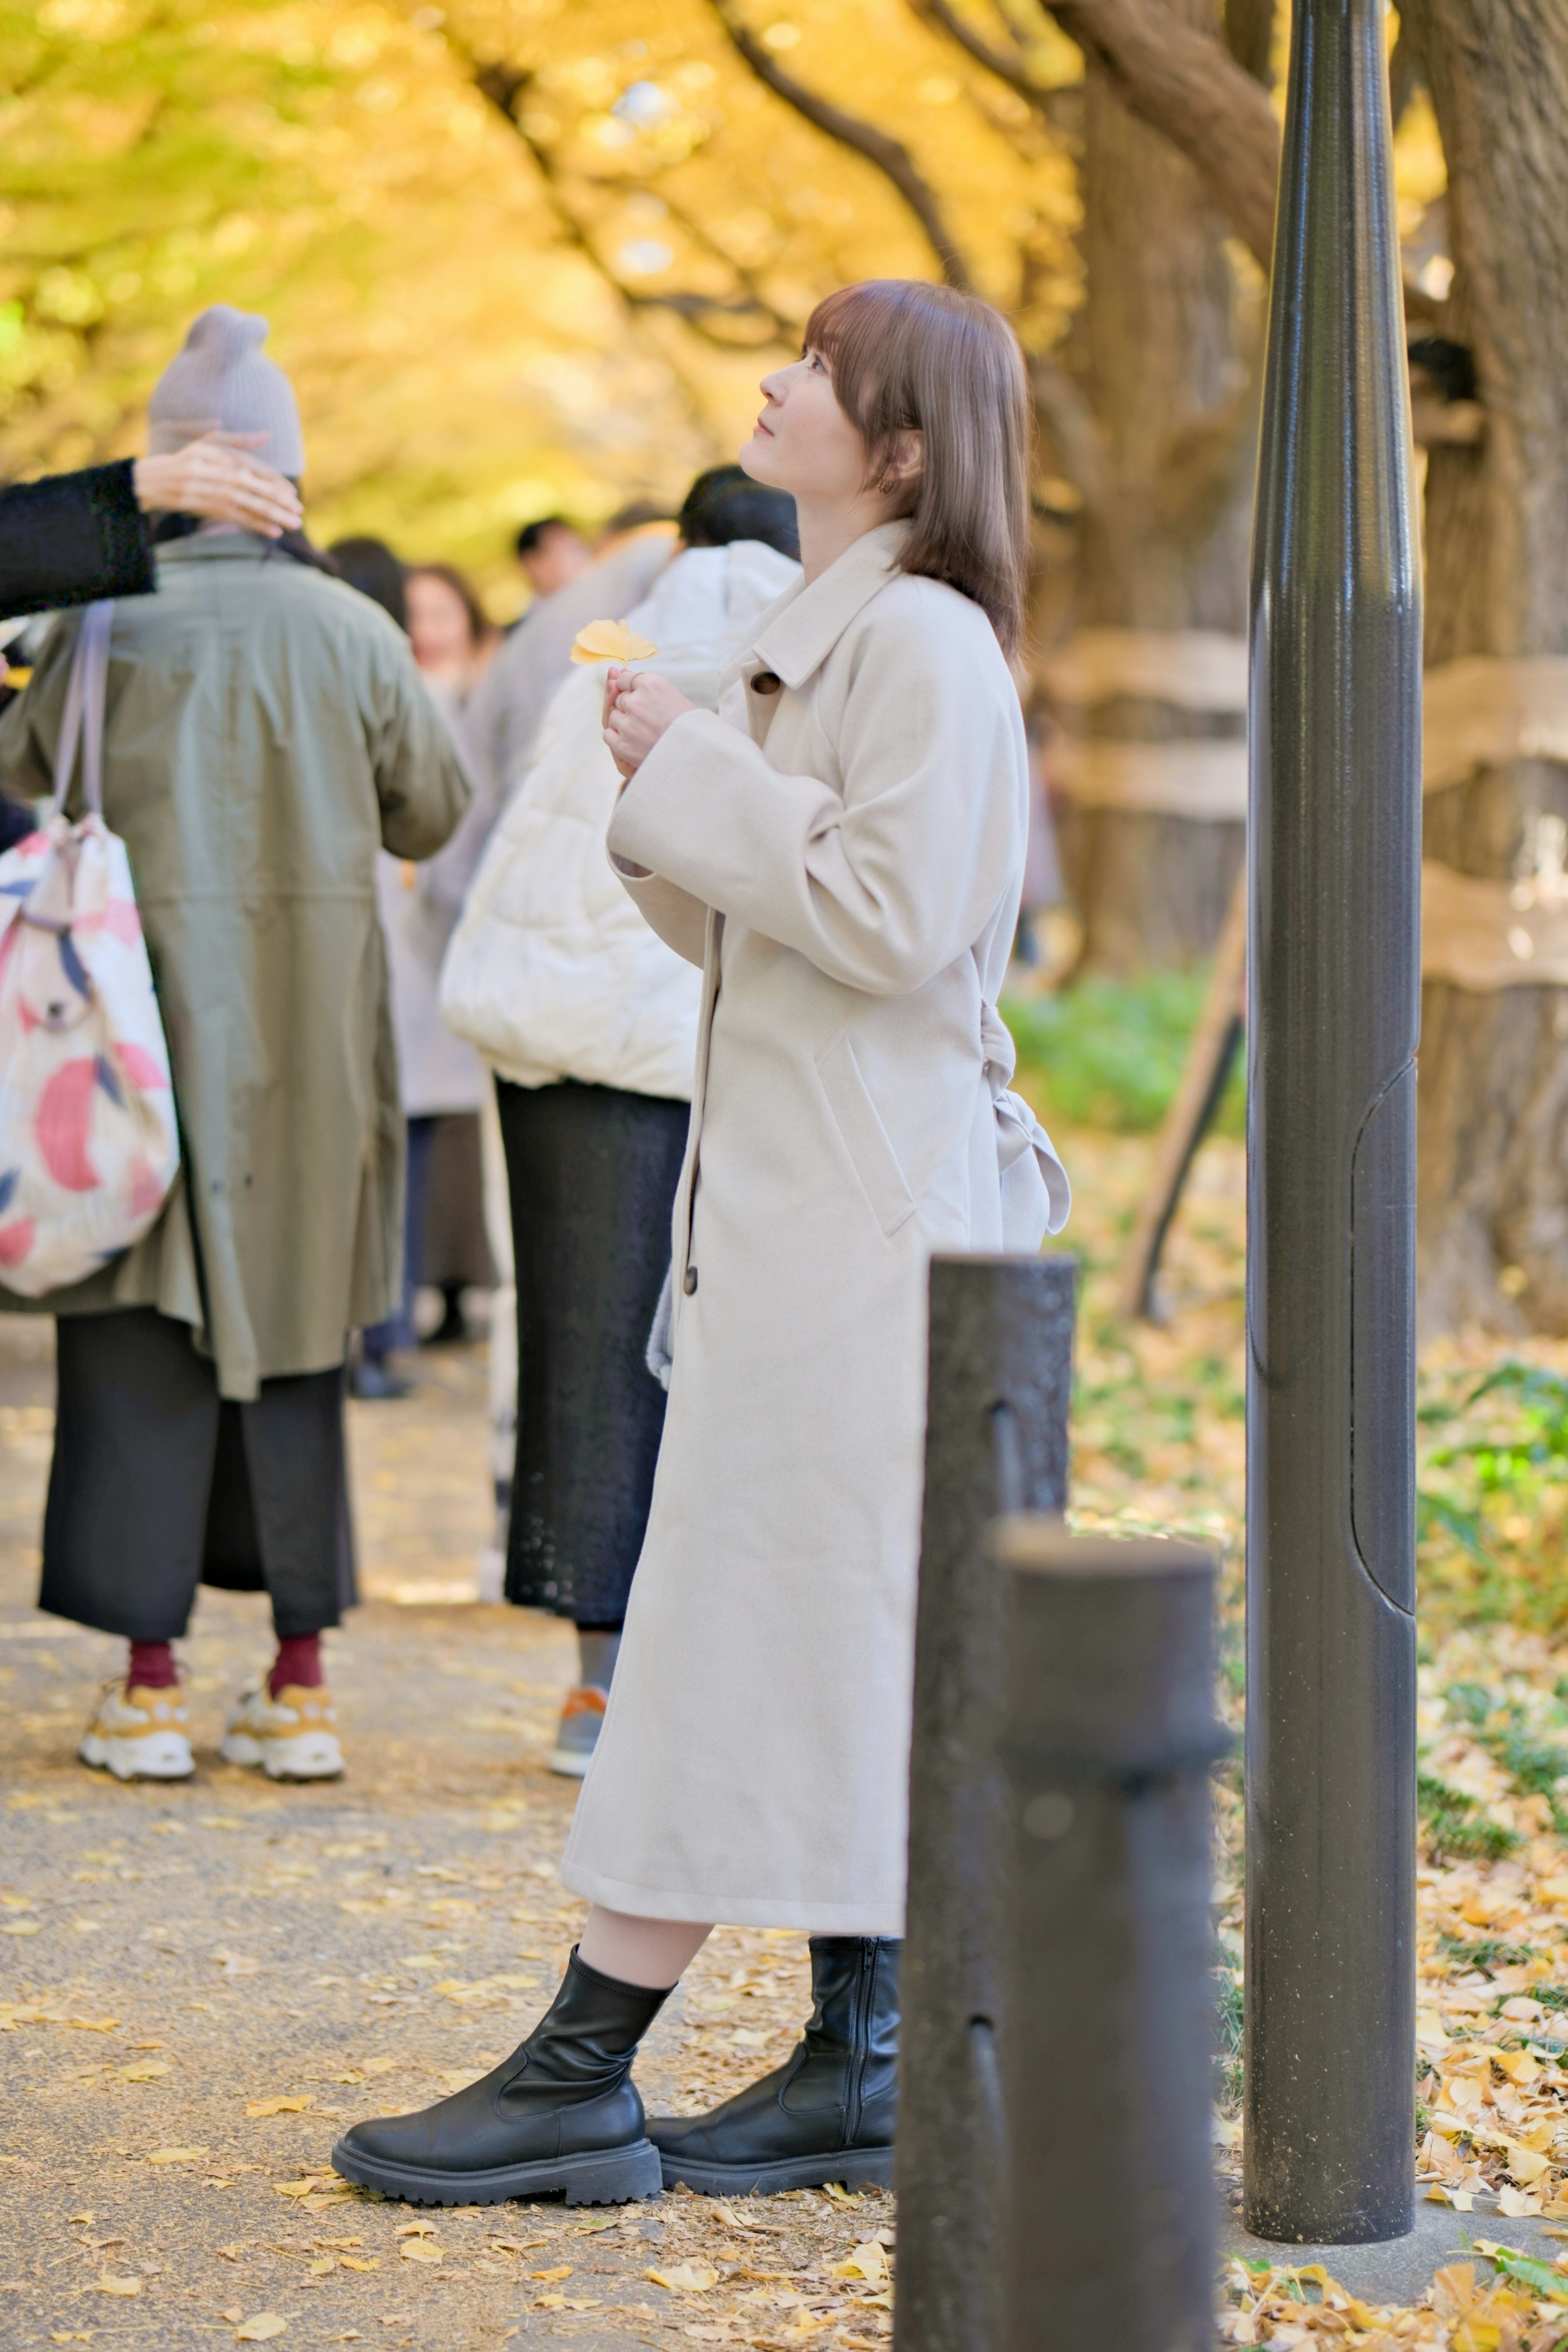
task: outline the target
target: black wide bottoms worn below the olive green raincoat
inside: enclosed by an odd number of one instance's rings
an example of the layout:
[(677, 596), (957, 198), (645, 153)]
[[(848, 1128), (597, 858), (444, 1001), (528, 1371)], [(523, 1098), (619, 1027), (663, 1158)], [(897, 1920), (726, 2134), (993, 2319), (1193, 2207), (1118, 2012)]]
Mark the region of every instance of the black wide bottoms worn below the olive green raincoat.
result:
[(132, 1642), (183, 1635), (197, 1583), (268, 1592), (280, 1637), (355, 1599), (343, 1369), (219, 1397), (155, 1308), (56, 1319), (38, 1606)]

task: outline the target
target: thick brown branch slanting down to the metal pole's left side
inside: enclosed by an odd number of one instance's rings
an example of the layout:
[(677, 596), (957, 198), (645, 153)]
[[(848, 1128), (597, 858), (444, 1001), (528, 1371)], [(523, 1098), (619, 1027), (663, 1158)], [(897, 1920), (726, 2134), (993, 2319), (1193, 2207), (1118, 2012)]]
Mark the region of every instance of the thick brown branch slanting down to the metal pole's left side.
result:
[(1267, 92), (1218, 33), (1161, 0), (1041, 0), (1117, 96), (1182, 151), (1262, 268), (1274, 256), (1279, 125)]

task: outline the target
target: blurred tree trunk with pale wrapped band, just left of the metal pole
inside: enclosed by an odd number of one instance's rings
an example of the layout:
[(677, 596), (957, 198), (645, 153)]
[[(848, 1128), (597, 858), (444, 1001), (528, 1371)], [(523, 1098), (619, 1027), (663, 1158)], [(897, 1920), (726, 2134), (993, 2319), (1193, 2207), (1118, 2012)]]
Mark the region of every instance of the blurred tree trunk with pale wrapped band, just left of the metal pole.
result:
[[(1180, 14), (1211, 19), (1201, 0), (1180, 0)], [(1077, 626), (1241, 640), (1253, 405), (1225, 221), (1194, 167), (1133, 120), (1093, 61), (1081, 186), (1088, 292), (1070, 358), (1095, 416), (1100, 477), (1079, 532)], [(1140, 691), (1138, 663), (1121, 691), (1107, 684), (1065, 713), (1060, 849), (1084, 920), (1081, 969), (1133, 974), (1213, 948), (1244, 828), (1239, 816), (1175, 814), (1180, 776), (1161, 807), (1159, 755), (1119, 760), (1095, 746), (1227, 741), (1227, 774), (1241, 779), (1246, 720), (1234, 696), (1232, 708), (1201, 708), (1201, 696), (1194, 708), (1194, 696)], [(1119, 767), (1143, 781), (1117, 786)]]

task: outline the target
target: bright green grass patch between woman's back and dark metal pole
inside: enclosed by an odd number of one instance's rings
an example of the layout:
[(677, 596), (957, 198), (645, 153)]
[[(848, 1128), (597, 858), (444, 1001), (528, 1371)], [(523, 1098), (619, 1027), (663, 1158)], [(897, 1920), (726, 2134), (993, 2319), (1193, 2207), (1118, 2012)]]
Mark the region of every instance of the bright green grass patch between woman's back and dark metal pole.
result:
[[(1206, 985), (1204, 969), (1152, 971), (1140, 981), (1077, 981), (1051, 997), (1006, 997), (1001, 1018), (1041, 1120), (1117, 1136), (1159, 1127), (1180, 1084)], [(1215, 1129), (1246, 1131), (1241, 1054)]]

